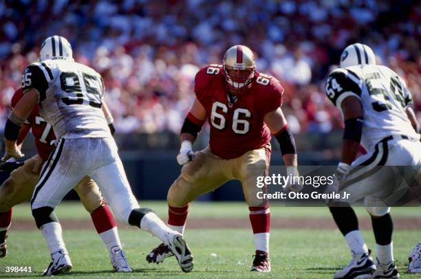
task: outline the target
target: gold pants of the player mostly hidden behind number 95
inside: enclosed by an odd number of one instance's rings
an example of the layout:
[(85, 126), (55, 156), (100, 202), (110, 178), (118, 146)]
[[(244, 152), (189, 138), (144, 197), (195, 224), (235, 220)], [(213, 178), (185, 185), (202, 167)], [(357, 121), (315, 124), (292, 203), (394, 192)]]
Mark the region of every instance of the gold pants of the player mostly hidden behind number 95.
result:
[[(39, 180), (39, 172), (32, 172), (38, 160), (37, 155), (27, 159), (23, 166), (13, 170), (10, 177), (1, 184), (0, 212), (6, 212), (23, 201), (30, 201)], [(89, 213), (104, 203), (98, 186), (89, 177), (83, 177), (74, 190)]]

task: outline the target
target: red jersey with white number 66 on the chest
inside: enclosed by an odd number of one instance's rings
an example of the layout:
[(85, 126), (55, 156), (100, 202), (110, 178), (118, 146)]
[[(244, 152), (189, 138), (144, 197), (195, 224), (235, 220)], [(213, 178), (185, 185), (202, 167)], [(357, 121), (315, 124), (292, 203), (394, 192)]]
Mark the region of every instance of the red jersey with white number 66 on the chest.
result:
[(270, 142), (263, 118), (281, 107), (283, 87), (276, 78), (257, 72), (252, 87), (233, 101), (224, 82), (222, 65), (204, 67), (196, 74), (195, 94), (208, 115), (210, 150), (232, 159)]

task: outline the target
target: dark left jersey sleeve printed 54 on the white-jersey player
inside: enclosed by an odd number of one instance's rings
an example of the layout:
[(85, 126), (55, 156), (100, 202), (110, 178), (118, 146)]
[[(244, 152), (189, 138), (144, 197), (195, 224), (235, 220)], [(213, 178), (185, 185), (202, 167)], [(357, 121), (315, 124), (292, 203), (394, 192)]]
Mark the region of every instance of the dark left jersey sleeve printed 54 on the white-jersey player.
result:
[(341, 110), (341, 104), (345, 98), (354, 96), (361, 99), (362, 84), (363, 81), (354, 72), (347, 69), (336, 69), (330, 73), (326, 80), (327, 98)]

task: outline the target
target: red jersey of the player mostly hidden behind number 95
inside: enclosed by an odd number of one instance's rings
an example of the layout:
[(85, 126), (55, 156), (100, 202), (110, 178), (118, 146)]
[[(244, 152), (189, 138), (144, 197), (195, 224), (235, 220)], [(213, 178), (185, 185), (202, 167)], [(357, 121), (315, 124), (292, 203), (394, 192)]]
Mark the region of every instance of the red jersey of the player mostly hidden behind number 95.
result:
[[(23, 91), (21, 88), (14, 92), (14, 95), (12, 97), (12, 109), (14, 108), (14, 106), (16, 106), (17, 102), (21, 100), (22, 96)], [(19, 145), (23, 142), (26, 135), (28, 134), (29, 129), (31, 129), (32, 134), (35, 137), (36, 152), (41, 158), (43, 158), (43, 160), (47, 160), (48, 156), (54, 149), (54, 146), (52, 146), (50, 143), (53, 139), (56, 139), (56, 135), (54, 135), (52, 126), (45, 122), (44, 118), (42, 118), (41, 115), (39, 115), (38, 104), (35, 105), (30, 116), (23, 125), (25, 125), (28, 129), (21, 130), (25, 132), (19, 133), (17, 144)]]

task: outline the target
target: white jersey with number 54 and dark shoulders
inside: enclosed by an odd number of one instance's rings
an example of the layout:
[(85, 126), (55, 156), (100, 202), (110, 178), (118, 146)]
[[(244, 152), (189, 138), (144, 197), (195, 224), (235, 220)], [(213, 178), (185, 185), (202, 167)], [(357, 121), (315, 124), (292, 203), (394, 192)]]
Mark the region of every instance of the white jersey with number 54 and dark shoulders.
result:
[(390, 135), (420, 139), (405, 111), (412, 102), (411, 92), (388, 67), (357, 65), (335, 69), (327, 77), (326, 94), (341, 111), (341, 103), (348, 96), (361, 100), (364, 110), (361, 144), (366, 150)]

